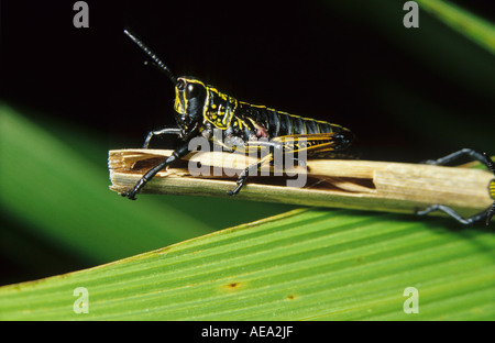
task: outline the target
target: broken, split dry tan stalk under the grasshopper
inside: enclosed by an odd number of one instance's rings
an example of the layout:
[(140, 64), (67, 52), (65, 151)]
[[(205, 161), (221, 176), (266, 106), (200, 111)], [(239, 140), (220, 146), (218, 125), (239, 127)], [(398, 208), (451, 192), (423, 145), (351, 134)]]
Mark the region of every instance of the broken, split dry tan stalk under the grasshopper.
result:
[[(172, 151), (162, 150), (110, 151), (110, 189), (117, 192), (130, 189), (148, 168), (170, 154)], [(239, 173), (256, 161), (241, 154), (191, 153), (168, 170), (158, 173), (142, 192), (229, 197), (227, 190), (235, 187), (237, 176), (227, 175)], [(217, 176), (191, 176), (189, 163), (210, 174), (213, 167), (221, 173)], [(463, 215), (480, 212), (493, 202), (487, 191), (493, 174), (481, 169), (315, 159), (307, 162), (307, 168), (295, 167), (286, 172), (306, 173), (306, 186), (287, 187), (287, 176), (253, 176), (238, 196), (229, 198), (403, 213), (442, 203)]]

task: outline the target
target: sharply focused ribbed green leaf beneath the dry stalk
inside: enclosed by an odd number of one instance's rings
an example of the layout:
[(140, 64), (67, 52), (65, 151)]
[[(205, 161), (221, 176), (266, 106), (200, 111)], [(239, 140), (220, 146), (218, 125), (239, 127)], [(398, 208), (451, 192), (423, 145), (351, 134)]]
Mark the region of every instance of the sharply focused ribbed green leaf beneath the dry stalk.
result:
[[(495, 235), (446, 220), (295, 210), (0, 288), (2, 320), (493, 320)], [(88, 291), (88, 313), (74, 312)], [(418, 291), (419, 313), (405, 313)]]

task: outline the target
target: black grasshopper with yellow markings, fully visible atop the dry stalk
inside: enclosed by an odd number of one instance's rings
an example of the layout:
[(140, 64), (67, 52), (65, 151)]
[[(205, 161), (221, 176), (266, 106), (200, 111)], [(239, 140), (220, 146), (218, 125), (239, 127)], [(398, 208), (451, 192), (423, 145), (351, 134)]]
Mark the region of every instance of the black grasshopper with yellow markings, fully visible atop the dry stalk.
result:
[[(176, 77), (140, 40), (128, 30), (124, 30), (124, 33), (153, 59), (154, 66), (165, 73), (175, 86), (174, 109), (177, 125), (150, 132), (144, 147), (148, 147), (154, 136), (173, 134), (183, 140), (172, 156), (144, 174), (133, 189), (122, 193), (129, 199), (134, 200), (135, 195), (160, 170), (186, 156), (190, 152), (189, 142), (194, 137), (204, 137), (222, 146), (243, 145), (248, 150), (270, 151), (258, 163), (249, 166), (239, 175), (237, 187), (228, 191), (231, 196), (241, 190), (249, 175), (273, 161), (276, 150), (282, 150), (283, 154), (304, 151), (307, 156), (311, 156), (340, 152), (354, 139), (353, 133), (341, 125), (250, 104), (195, 78)], [(213, 135), (216, 129), (221, 130), (221, 140)]]

